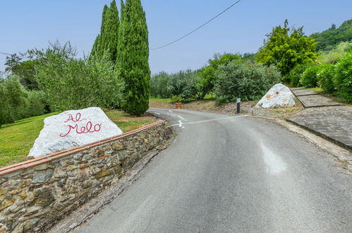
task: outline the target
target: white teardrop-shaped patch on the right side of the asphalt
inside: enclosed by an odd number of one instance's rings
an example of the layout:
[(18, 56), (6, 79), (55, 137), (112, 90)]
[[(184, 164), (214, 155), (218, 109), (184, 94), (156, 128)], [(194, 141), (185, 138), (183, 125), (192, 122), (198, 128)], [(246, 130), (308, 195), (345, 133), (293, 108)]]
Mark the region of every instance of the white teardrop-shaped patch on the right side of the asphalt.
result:
[(262, 148), (264, 162), (267, 164), (271, 174), (279, 174), (286, 170), (286, 163), (281, 160), (279, 155), (269, 150), (262, 141), (260, 141), (260, 148)]

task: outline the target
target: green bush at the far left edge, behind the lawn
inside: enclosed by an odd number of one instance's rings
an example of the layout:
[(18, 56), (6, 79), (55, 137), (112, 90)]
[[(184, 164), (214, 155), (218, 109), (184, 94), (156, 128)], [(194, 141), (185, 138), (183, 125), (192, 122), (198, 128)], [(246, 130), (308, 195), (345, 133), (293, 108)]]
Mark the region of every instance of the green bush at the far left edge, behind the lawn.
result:
[(0, 82), (0, 126), (12, 123), (25, 116), (28, 106), (27, 93), (20, 84), (20, 78), (10, 75)]

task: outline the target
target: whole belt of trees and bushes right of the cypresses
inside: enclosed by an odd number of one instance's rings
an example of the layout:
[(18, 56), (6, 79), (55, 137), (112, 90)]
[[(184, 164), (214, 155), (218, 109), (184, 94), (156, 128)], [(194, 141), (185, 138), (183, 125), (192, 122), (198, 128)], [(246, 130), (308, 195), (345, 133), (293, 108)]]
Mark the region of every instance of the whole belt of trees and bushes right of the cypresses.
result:
[[(352, 102), (352, 20), (308, 37), (284, 25), (267, 34), (256, 54), (215, 54), (196, 71), (160, 72), (150, 80), (152, 98), (218, 103), (259, 100), (276, 83), (321, 88), (324, 95)], [(316, 38), (317, 40), (315, 40)]]

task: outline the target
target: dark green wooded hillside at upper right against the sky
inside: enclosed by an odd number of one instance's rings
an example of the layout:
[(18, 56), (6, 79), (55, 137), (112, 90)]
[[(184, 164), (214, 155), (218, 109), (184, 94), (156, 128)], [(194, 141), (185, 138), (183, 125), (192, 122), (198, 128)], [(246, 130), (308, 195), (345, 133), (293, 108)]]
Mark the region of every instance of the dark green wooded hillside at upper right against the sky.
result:
[(352, 40), (352, 19), (346, 20), (339, 28), (333, 24), (328, 30), (314, 33), (310, 37), (317, 42), (317, 51), (332, 50), (337, 44)]

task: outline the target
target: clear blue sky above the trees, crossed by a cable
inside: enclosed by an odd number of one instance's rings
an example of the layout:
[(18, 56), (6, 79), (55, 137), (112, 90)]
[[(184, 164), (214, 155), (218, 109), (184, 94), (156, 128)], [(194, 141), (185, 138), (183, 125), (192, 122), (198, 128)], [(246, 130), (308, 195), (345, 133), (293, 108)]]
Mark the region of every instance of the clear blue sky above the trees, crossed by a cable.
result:
[[(119, 0), (118, 7), (119, 7)], [(197, 28), (233, 0), (142, 0), (150, 47), (159, 47)], [(0, 52), (25, 52), (49, 41), (70, 41), (78, 54), (90, 52), (99, 33), (102, 8), (110, 0), (1, 0)], [(204, 66), (214, 53), (257, 52), (265, 34), (289, 20), (307, 35), (341, 25), (352, 16), (351, 0), (242, 0), (193, 35), (150, 52), (152, 73)], [(0, 55), (0, 70), (6, 56)]]

